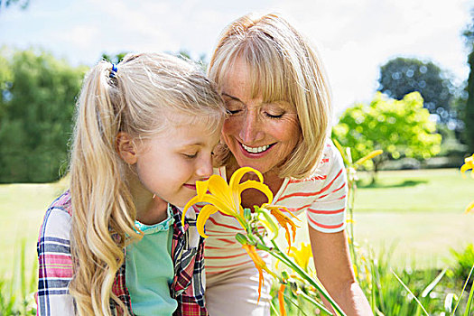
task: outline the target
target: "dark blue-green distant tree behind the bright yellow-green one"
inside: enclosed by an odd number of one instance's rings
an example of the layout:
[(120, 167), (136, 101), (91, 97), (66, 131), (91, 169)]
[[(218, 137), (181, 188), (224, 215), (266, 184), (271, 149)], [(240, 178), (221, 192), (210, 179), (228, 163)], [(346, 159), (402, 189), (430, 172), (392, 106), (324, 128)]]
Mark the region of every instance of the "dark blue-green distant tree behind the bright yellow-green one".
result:
[(457, 111), (451, 108), (457, 89), (448, 75), (432, 61), (400, 57), (389, 60), (380, 68), (378, 83), (378, 91), (397, 100), (408, 93), (420, 92), (424, 107), (438, 116), (441, 124), (451, 129), (462, 128)]

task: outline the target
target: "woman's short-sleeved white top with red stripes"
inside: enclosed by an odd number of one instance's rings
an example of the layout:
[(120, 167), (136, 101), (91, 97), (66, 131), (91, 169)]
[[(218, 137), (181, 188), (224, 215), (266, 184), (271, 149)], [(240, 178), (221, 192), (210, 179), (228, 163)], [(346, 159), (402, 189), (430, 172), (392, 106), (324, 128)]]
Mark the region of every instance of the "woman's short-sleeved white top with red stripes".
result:
[[(226, 169), (214, 171), (226, 179)], [(328, 140), (317, 172), (303, 180), (285, 178), (274, 195), (274, 204), (283, 205), (298, 215), (306, 211), (311, 228), (325, 233), (346, 226), (347, 178), (339, 151)], [(250, 262), (250, 257), (237, 242), (237, 232), (244, 233), (237, 219), (217, 212), (206, 224), (204, 256), (206, 274), (218, 274)], [(211, 284), (209, 284), (211, 285)]]

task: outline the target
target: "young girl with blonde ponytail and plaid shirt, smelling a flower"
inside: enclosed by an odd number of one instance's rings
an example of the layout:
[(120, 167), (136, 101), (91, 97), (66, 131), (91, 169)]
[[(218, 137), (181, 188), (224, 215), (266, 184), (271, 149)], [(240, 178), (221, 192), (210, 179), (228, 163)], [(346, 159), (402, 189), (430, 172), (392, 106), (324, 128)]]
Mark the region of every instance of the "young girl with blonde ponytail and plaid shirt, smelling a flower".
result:
[(38, 315), (207, 315), (203, 243), (181, 211), (212, 174), (225, 109), (159, 53), (101, 61), (79, 97), (70, 190), (38, 240)]

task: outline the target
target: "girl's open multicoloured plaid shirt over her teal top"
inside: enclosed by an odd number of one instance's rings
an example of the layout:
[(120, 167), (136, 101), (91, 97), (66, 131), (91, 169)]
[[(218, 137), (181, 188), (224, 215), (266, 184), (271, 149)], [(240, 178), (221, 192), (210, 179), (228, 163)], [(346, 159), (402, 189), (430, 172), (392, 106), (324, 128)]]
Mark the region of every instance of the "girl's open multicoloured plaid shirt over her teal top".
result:
[[(190, 209), (191, 210), (191, 209)], [(196, 230), (196, 219), (186, 218), (172, 207), (172, 259), (174, 278), (171, 295), (178, 302), (175, 316), (207, 316), (204, 304), (204, 239)], [(39, 279), (37, 315), (74, 315), (74, 302), (68, 291), (73, 274), (70, 256), (70, 191), (52, 202), (46, 211), (38, 239)], [(130, 294), (125, 285), (125, 263), (116, 273), (112, 292), (133, 315)], [(122, 315), (116, 302), (110, 301), (115, 315)]]

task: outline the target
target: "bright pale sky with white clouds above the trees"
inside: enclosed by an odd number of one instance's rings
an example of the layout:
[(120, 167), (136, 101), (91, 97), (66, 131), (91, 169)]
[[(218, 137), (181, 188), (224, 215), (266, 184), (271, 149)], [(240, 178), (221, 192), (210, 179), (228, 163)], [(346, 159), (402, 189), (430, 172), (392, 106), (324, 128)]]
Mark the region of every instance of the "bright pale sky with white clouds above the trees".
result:
[(320, 52), (341, 113), (374, 97), (380, 66), (395, 57), (431, 60), (456, 83), (467, 79), (461, 33), (473, 7), (474, 0), (30, 0), (24, 11), (0, 6), (0, 46), (41, 48), (73, 65), (122, 51), (184, 50), (209, 60), (228, 23), (279, 13)]

